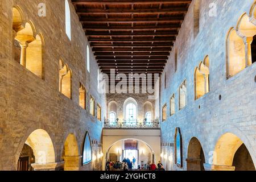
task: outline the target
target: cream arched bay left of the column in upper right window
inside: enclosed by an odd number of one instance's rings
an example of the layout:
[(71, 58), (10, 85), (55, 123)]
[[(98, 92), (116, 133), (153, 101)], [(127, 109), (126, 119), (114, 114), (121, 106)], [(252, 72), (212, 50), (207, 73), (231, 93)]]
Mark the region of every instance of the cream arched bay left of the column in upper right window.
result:
[(230, 28), (226, 37), (226, 77), (230, 78), (246, 67), (243, 39), (234, 28)]

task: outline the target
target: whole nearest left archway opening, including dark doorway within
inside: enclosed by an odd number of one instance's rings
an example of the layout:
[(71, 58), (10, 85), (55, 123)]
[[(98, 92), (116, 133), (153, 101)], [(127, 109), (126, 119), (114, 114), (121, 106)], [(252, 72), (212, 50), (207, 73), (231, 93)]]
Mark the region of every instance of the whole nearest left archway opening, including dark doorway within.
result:
[[(24, 152), (28, 157), (24, 162)], [(29, 154), (29, 155), (28, 155)], [(26, 166), (28, 163), (28, 167)], [(42, 129), (33, 131), (24, 143), (18, 160), (18, 170), (32, 170), (31, 164), (55, 163), (55, 152), (49, 134)]]

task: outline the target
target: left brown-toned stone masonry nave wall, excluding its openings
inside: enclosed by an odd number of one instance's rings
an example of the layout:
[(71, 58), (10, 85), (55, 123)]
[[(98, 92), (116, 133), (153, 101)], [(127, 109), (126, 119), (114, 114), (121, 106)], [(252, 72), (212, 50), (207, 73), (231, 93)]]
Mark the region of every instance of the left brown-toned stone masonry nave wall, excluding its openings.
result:
[[(38, 16), (38, 4), (46, 3), (46, 17)], [(34, 23), (44, 38), (44, 80), (14, 61), (12, 7), (18, 5), (23, 19)], [(97, 92), (97, 63), (90, 52), (90, 73), (86, 71), (86, 40), (79, 18), (71, 5), (72, 41), (65, 34), (65, 1), (0, 1), (0, 170), (15, 170), (27, 137), (44, 129), (52, 139), (55, 160), (60, 162), (65, 138), (73, 133), (80, 155), (86, 131), (101, 143), (103, 122), (89, 113), (90, 94), (102, 107), (106, 97)], [(59, 59), (72, 69), (72, 100), (59, 93)], [(79, 82), (86, 88), (86, 110), (79, 106)], [(94, 146), (93, 153), (101, 151)], [(99, 162), (94, 168), (101, 166)], [(92, 169), (92, 164), (81, 169)]]

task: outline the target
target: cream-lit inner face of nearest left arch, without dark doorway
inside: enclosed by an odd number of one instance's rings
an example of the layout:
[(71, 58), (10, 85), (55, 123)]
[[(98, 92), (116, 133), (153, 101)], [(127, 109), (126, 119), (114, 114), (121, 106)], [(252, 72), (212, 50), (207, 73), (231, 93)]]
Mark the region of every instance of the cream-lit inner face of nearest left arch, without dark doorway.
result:
[[(53, 143), (51, 140), (51, 137), (47, 133), (46, 130), (43, 129), (37, 129), (34, 130), (26, 139), (26, 142), (24, 144), (27, 144), (27, 146), (30, 146), (32, 148), (32, 151), (35, 156), (35, 163), (37, 166), (32, 167), (38, 168), (40, 165), (45, 164), (55, 164), (55, 150), (53, 147)], [(43, 169), (46, 169), (45, 167)]]

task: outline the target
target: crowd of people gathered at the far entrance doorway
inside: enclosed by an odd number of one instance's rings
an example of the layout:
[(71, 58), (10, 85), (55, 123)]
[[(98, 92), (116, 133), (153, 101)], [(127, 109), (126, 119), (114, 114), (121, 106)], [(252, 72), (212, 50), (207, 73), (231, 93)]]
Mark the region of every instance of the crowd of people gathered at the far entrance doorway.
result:
[[(106, 162), (106, 171), (114, 171), (114, 170), (122, 170), (123, 171), (128, 171), (129, 169), (134, 168), (135, 169), (135, 162), (136, 159), (133, 158), (133, 160), (131, 161), (129, 158), (125, 158), (123, 159), (122, 163), (117, 161), (117, 162), (112, 162), (110, 160), (108, 160), (108, 162)], [(154, 162), (152, 162), (152, 164), (148, 164), (147, 165), (147, 170), (148, 171), (165, 171), (163, 164), (159, 161), (157, 166), (155, 165)]]

